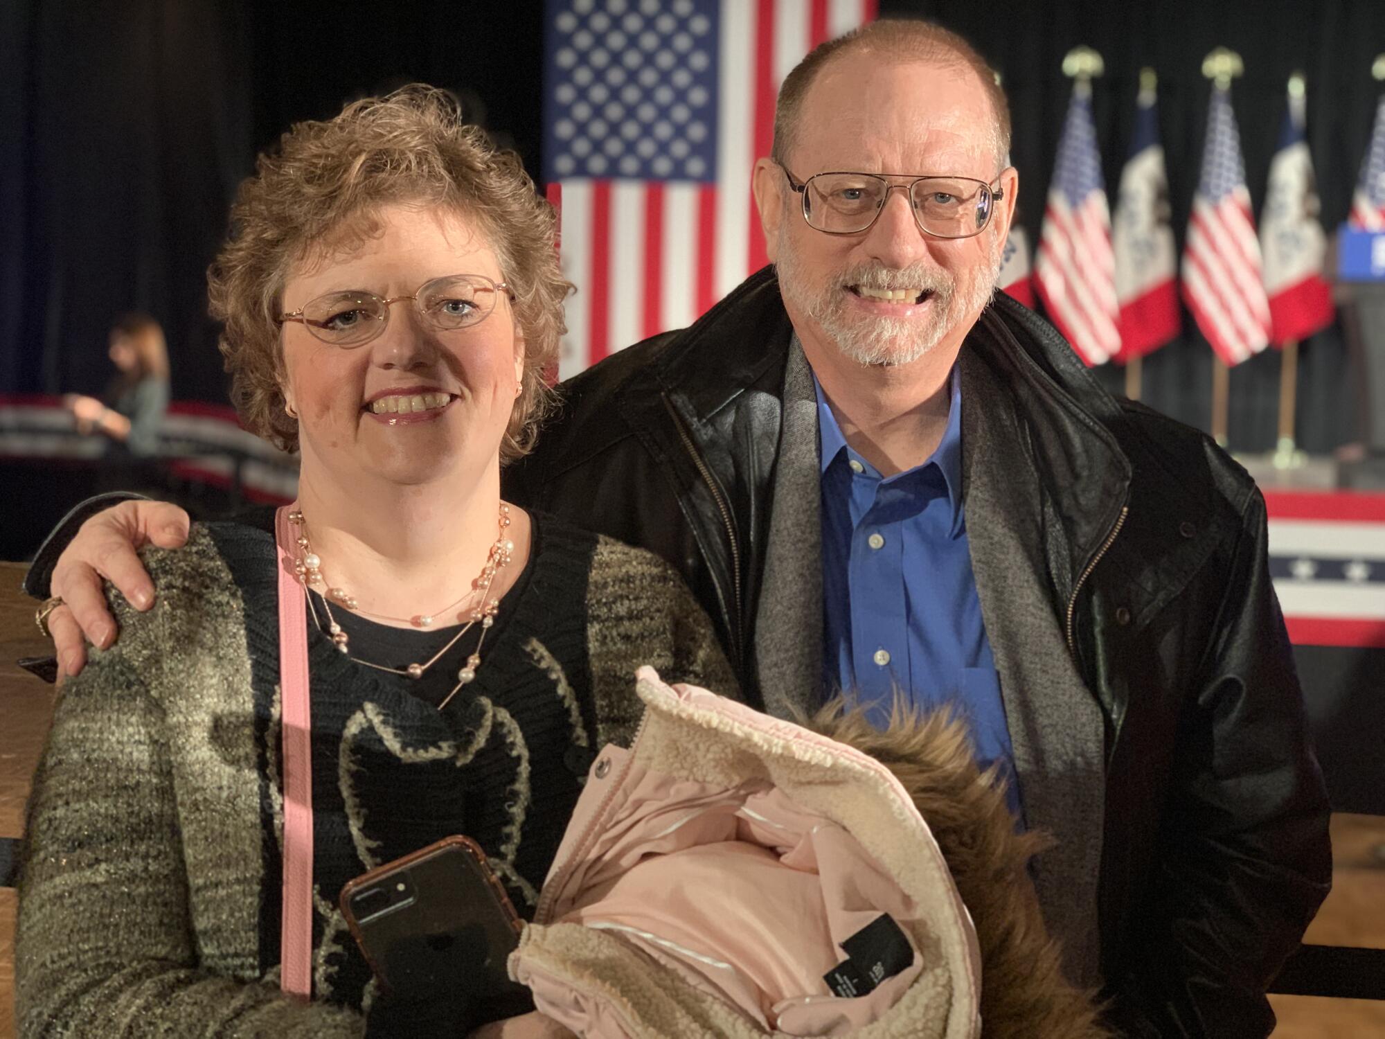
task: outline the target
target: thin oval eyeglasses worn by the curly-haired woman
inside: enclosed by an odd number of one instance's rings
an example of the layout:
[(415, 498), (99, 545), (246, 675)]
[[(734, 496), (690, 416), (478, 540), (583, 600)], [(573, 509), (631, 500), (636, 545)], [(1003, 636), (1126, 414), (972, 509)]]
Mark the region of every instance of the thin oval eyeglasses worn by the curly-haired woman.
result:
[(501, 292), (511, 299), (515, 294), (504, 281), (492, 281), (485, 274), (449, 274), (425, 281), (413, 295), (377, 296), (373, 292), (328, 292), (291, 314), (274, 320), (301, 321), (309, 332), (332, 346), (364, 346), (389, 324), (389, 306), (411, 299), (420, 320), (438, 331), (470, 328), (486, 320), (496, 308)]

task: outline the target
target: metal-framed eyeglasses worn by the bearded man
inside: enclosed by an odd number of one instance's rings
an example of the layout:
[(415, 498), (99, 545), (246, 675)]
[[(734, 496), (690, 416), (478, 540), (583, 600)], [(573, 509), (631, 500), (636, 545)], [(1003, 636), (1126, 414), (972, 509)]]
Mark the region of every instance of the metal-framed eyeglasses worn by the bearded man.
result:
[[(803, 201), (807, 226), (824, 234), (860, 234), (875, 223), (889, 193), (909, 195), (914, 222), (935, 238), (971, 238), (986, 230), (999, 187), (971, 177), (910, 177), (903, 173), (816, 173), (799, 181), (787, 168), (788, 186)], [(892, 183), (900, 181), (904, 183)]]

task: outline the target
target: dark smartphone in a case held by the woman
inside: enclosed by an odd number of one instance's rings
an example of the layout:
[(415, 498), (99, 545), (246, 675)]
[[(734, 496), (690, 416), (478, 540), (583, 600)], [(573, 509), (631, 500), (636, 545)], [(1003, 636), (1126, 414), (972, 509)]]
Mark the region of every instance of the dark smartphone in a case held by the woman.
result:
[(445, 837), (348, 881), (339, 905), (391, 995), (428, 999), (461, 985), (488, 1017), (532, 1009), (506, 968), (524, 924), (471, 838)]

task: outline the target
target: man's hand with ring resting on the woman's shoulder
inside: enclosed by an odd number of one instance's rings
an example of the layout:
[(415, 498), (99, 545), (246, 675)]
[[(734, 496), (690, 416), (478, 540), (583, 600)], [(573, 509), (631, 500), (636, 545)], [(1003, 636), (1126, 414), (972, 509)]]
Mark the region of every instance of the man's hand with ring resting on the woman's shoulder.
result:
[(122, 501), (97, 513), (78, 531), (53, 568), (53, 594), (62, 605), (48, 615), (61, 677), (86, 666), (86, 643), (100, 648), (116, 639), (102, 580), (136, 610), (154, 605), (154, 582), (140, 562), (145, 544), (179, 549), (187, 542), (188, 515), (166, 501)]

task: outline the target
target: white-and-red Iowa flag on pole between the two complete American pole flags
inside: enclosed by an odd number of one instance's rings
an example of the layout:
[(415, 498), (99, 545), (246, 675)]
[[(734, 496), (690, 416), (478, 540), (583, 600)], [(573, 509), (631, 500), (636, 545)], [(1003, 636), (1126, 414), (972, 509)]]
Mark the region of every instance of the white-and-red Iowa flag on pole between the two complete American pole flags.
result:
[(1141, 90), (1136, 105), (1134, 140), (1120, 172), (1111, 229), (1120, 306), (1119, 362), (1151, 353), (1179, 334), (1179, 251), (1169, 226), (1169, 179), (1155, 91)]

